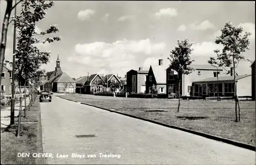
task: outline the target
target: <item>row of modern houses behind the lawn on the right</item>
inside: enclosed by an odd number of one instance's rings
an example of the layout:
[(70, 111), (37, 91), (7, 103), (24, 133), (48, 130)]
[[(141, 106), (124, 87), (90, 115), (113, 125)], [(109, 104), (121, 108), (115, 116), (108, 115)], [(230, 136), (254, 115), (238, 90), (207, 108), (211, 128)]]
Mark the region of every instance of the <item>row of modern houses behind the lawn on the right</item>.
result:
[[(148, 70), (130, 70), (126, 73), (125, 89), (130, 93), (152, 93), (156, 85), (158, 94), (170, 95), (178, 91), (182, 96), (234, 96), (233, 68), (228, 74), (222, 68), (213, 65), (190, 65), (195, 68), (189, 75), (178, 75), (169, 65), (163, 65), (159, 59), (158, 65), (151, 65)], [(252, 73), (237, 75), (238, 96), (252, 96), (255, 99), (255, 61), (251, 65)]]

